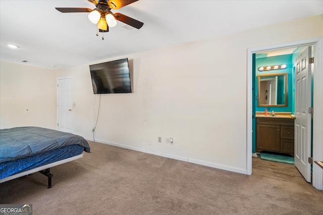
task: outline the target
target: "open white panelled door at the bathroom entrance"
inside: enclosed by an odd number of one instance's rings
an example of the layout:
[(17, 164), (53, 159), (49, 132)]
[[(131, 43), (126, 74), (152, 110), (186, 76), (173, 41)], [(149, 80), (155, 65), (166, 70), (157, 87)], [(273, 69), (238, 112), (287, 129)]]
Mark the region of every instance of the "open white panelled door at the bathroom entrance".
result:
[(311, 182), (311, 47), (297, 57), (295, 65), (295, 166)]

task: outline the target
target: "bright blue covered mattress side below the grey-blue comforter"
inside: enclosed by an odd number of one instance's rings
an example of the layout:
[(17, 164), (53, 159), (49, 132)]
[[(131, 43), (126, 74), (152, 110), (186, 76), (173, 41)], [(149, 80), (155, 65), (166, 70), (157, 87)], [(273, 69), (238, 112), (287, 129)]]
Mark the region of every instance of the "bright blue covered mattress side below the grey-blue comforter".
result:
[(2, 162), (0, 163), (0, 180), (11, 175), (80, 155), (83, 153), (83, 150), (83, 146), (75, 144), (14, 161)]

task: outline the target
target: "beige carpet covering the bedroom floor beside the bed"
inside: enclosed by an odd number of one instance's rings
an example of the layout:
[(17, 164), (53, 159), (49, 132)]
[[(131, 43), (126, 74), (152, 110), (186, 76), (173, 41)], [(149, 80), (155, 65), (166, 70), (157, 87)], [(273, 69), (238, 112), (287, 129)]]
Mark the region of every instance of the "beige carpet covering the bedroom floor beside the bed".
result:
[(92, 153), (0, 184), (0, 203), (33, 214), (323, 214), (310, 184), (251, 176), (90, 142)]

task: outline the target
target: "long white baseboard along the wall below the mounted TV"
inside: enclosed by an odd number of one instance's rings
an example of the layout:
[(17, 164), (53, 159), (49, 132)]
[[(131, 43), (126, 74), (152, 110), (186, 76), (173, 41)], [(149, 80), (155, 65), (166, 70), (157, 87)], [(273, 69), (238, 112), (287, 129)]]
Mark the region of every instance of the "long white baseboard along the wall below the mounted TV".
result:
[[(86, 137), (84, 137), (84, 138), (87, 140), (93, 141), (92, 138), (86, 138)], [(207, 161), (201, 161), (201, 160), (190, 159), (190, 158), (185, 158), (185, 157), (181, 157), (181, 156), (170, 155), (170, 154), (161, 153), (161, 152), (157, 152), (157, 151), (153, 151), (153, 150), (146, 150), (146, 149), (140, 149), (137, 147), (130, 147), (130, 146), (126, 146), (126, 145), (116, 144), (114, 142), (107, 142), (107, 141), (97, 140), (97, 139), (95, 141), (100, 142), (101, 144), (106, 144), (106, 145), (110, 145), (110, 146), (120, 147), (120, 148), (134, 150), (134, 151), (143, 152), (143, 153), (148, 153), (148, 154), (157, 155), (157, 156), (161, 156), (161, 157), (165, 157), (165, 158), (171, 158), (171, 159), (175, 159), (175, 160), (179, 160), (179, 161), (186, 161), (186, 162), (193, 163), (193, 164), (199, 164), (202, 166), (213, 167), (213, 168), (217, 168), (217, 169), (221, 169), (221, 170), (247, 174), (246, 169), (240, 169), (240, 168), (225, 166), (225, 165), (221, 165), (221, 164), (211, 163), (211, 162), (207, 162)]]

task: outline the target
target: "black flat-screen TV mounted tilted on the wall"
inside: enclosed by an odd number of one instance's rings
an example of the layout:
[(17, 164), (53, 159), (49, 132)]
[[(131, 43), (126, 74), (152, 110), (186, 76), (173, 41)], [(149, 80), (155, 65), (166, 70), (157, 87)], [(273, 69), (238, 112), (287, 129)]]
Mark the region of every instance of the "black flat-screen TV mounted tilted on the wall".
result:
[(90, 65), (94, 94), (131, 93), (128, 58)]

